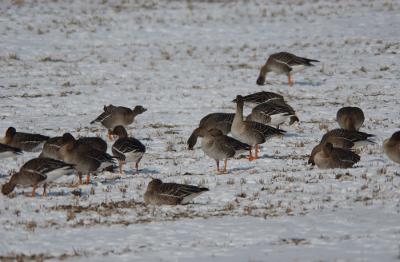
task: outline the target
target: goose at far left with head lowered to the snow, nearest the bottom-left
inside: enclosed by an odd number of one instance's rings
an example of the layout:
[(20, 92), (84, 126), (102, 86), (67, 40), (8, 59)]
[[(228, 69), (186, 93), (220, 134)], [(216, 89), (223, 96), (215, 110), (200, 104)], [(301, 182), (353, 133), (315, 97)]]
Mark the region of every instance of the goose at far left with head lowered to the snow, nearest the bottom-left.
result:
[(74, 173), (74, 165), (51, 158), (34, 158), (26, 162), (18, 173), (1, 188), (4, 195), (10, 194), (17, 185), (32, 186), (32, 197), (37, 186), (43, 185), (43, 196), (46, 195), (47, 183)]

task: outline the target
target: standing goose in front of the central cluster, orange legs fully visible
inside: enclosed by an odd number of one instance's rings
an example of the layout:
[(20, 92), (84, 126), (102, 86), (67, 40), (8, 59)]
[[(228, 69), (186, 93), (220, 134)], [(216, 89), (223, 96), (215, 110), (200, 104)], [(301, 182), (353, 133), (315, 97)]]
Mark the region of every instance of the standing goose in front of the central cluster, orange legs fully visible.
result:
[[(218, 173), (226, 173), (228, 158), (235, 156), (239, 151), (250, 150), (249, 145), (224, 135), (216, 128), (208, 130), (201, 141), (201, 148), (207, 156), (215, 160)], [(219, 169), (220, 160), (224, 160), (223, 170)]]

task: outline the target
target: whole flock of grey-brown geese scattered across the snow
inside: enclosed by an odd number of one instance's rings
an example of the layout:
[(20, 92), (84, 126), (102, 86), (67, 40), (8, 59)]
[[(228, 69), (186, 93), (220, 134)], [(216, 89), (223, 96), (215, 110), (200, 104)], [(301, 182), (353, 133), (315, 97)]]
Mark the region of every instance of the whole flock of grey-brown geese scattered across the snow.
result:
[[(287, 52), (272, 54), (262, 66), (257, 84), (264, 85), (266, 75), (274, 72), (285, 74), (291, 86), (294, 83), (292, 73), (313, 66), (312, 62), (319, 61)], [(273, 92), (238, 95), (232, 102), (236, 103), (235, 113), (211, 113), (205, 116), (187, 141), (188, 149), (193, 150), (198, 138), (202, 138), (201, 148), (208, 157), (215, 160), (219, 174), (227, 173), (228, 159), (241, 152), (248, 151), (248, 160), (256, 160), (259, 157), (259, 145), (272, 137), (284, 136), (286, 131), (280, 129), (280, 125), (285, 122), (292, 125), (299, 121), (295, 110), (284, 97)], [(246, 117), (243, 115), (245, 105), (252, 107)], [(10, 180), (2, 186), (2, 193), (8, 195), (16, 186), (32, 186), (34, 197), (36, 188), (43, 185), (43, 195), (46, 195), (49, 182), (75, 173), (79, 177), (79, 184), (83, 183), (83, 175), (86, 175), (86, 183), (89, 184), (91, 175), (104, 170), (113, 171), (116, 161), (121, 174), (124, 165), (128, 163), (134, 163), (136, 172), (139, 172), (139, 162), (146, 147), (136, 138), (128, 136), (126, 128), (145, 111), (142, 106), (134, 109), (104, 106), (103, 112), (91, 122), (101, 123), (107, 128), (110, 140), (117, 137), (111, 148), (112, 155), (107, 153), (107, 143), (100, 137), (76, 139), (70, 133), (65, 133), (50, 138), (17, 132), (14, 127), (9, 127), (0, 140), (0, 158), (15, 157), (23, 151), (41, 153), (26, 162), (19, 172), (12, 174)], [(340, 128), (322, 137), (311, 152), (309, 164), (321, 169), (351, 168), (360, 161), (354, 149), (374, 143), (374, 135), (359, 131), (365, 119), (360, 108), (343, 107), (338, 110), (336, 119)], [(229, 133), (232, 137), (228, 136)], [(384, 140), (383, 148), (392, 161), (400, 163), (400, 131)], [(223, 168), (220, 167), (220, 161), (224, 162)], [(186, 204), (205, 191), (208, 189), (153, 179), (147, 186), (144, 200), (147, 204), (156, 205)]]

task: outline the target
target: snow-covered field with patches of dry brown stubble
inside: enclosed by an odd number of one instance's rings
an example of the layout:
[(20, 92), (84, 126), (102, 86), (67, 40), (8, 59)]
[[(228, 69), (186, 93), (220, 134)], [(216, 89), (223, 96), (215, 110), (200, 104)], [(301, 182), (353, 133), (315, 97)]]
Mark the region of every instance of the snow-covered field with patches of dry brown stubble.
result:
[[(0, 196), (0, 260), (393, 261), (400, 258), (399, 165), (382, 141), (400, 128), (400, 2), (1, 1), (0, 132), (75, 136), (105, 104), (148, 111), (129, 132), (139, 175), (104, 173), (81, 196), (65, 179), (46, 198)], [(267, 56), (321, 61), (255, 84)], [(279, 92), (300, 123), (229, 174), (186, 140), (237, 94)], [(308, 166), (343, 105), (364, 110), (377, 144), (353, 169)], [(248, 109), (247, 109), (248, 110)], [(108, 141), (111, 145), (112, 141)], [(37, 154), (0, 161), (0, 183)], [(151, 178), (210, 191), (186, 206), (145, 206)]]

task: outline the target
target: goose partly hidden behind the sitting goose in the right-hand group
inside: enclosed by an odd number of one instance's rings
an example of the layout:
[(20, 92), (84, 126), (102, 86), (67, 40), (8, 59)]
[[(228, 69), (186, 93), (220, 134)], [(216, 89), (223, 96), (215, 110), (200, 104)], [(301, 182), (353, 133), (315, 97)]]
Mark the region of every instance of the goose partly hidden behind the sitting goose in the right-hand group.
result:
[(321, 142), (315, 146), (311, 152), (308, 163), (315, 165), (314, 157), (322, 150), (325, 143), (331, 143), (336, 148), (355, 149), (363, 145), (374, 144), (371, 140), (375, 135), (360, 131), (351, 131), (346, 129), (333, 129), (322, 136)]

